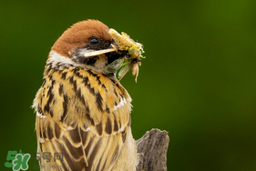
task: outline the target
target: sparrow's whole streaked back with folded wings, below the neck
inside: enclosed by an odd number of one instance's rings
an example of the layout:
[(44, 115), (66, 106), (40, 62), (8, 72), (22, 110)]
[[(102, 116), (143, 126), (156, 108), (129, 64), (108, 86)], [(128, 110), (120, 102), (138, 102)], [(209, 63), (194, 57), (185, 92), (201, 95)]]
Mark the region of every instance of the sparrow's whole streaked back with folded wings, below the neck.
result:
[(130, 124), (130, 98), (115, 80), (75, 68), (53, 72), (34, 106), (38, 152), (63, 153), (63, 163), (52, 160), (51, 165), (64, 170), (114, 166)]

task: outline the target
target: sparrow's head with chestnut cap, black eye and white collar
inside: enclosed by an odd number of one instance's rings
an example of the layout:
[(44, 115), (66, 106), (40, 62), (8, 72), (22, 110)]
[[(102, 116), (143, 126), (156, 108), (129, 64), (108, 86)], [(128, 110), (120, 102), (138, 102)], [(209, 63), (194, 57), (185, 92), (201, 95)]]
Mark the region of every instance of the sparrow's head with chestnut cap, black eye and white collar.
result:
[(115, 52), (87, 56), (88, 53), (113, 48), (116, 45), (108, 34), (109, 28), (97, 20), (78, 22), (68, 28), (52, 46), (48, 61), (53, 66), (73, 65), (106, 73), (105, 67), (117, 60), (120, 54)]

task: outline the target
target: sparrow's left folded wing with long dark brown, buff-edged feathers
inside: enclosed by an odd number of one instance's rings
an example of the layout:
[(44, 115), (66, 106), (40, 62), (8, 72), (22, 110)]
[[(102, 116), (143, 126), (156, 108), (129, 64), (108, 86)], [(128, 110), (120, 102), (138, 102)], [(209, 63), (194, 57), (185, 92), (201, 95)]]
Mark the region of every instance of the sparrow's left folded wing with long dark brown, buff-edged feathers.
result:
[[(77, 128), (63, 131), (52, 119), (37, 117), (36, 134), (37, 138), (38, 134), (42, 135), (37, 151), (41, 155), (41, 167), (45, 167), (46, 170), (58, 170), (58, 167), (62, 170), (83, 170), (87, 166), (87, 158)], [(52, 156), (50, 163), (44, 158), (46, 152), (50, 152)], [(56, 154), (61, 154), (63, 160), (55, 161), (53, 157)], [(53, 169), (54, 166), (56, 169)]]

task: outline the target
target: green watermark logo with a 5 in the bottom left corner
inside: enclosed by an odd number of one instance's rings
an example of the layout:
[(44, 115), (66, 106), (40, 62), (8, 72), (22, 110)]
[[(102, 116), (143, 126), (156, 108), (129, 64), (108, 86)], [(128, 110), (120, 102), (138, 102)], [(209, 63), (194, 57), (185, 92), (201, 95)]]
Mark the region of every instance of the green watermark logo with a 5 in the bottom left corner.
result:
[(29, 158), (30, 154), (24, 154), (21, 150), (19, 150), (19, 153), (17, 151), (8, 151), (6, 160), (12, 162), (5, 162), (5, 167), (13, 167), (14, 171), (19, 171), (20, 169), (27, 170)]

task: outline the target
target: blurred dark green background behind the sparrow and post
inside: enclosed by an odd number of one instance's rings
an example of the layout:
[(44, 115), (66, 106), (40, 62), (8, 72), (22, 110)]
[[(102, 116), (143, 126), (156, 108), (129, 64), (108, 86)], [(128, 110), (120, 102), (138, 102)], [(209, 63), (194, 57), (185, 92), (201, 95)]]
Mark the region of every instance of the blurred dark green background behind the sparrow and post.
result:
[[(30, 108), (50, 47), (87, 18), (144, 45), (133, 98), (136, 139), (169, 132), (168, 170), (256, 170), (256, 1), (2, 1), (0, 170), (9, 150), (36, 152)], [(35, 158), (29, 170), (36, 170)]]

